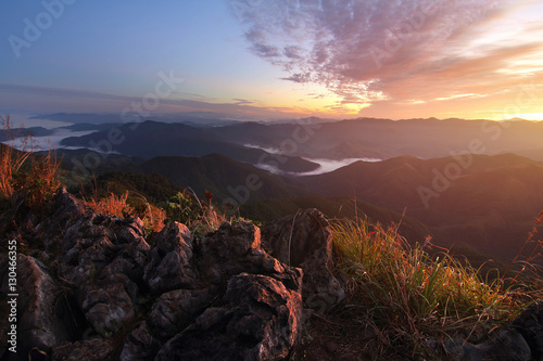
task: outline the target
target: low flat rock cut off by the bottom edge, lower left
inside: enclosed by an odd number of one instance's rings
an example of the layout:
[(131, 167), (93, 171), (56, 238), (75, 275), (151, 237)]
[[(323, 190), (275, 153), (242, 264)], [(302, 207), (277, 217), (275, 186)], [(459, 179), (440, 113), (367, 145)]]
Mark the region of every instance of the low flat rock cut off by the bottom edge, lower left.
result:
[(53, 361), (113, 361), (115, 348), (109, 339), (63, 344), (53, 349)]

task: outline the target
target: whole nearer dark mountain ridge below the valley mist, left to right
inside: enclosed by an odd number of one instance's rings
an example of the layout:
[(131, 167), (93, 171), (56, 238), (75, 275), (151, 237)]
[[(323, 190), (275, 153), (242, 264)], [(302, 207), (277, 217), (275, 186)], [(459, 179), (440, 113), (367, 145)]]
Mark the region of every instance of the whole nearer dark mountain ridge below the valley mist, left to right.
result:
[[(89, 151), (60, 153), (70, 175), (74, 162), (85, 162)], [(274, 175), (219, 154), (152, 159), (110, 154), (100, 167), (88, 170), (162, 175), (180, 189), (192, 188), (199, 196), (211, 191), (219, 203), (241, 204), (241, 212), (256, 220), (305, 207), (318, 207), (330, 217), (353, 217), (355, 202), (359, 215), (383, 223), (397, 221), (405, 210), (405, 223), (418, 224), (403, 229), (406, 236), (421, 242), (426, 232), (438, 244), (470, 245), (508, 259), (543, 209), (543, 163), (514, 154), (434, 159), (402, 156), (357, 162), (306, 177)]]

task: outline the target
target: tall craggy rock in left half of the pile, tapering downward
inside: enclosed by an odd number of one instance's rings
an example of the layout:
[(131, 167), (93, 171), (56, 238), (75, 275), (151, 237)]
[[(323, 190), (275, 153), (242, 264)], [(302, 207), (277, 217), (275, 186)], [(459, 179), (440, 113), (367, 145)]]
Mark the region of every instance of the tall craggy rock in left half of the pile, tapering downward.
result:
[(139, 219), (90, 214), (68, 228), (61, 271), (77, 287), (79, 307), (102, 335), (134, 314), (150, 249)]

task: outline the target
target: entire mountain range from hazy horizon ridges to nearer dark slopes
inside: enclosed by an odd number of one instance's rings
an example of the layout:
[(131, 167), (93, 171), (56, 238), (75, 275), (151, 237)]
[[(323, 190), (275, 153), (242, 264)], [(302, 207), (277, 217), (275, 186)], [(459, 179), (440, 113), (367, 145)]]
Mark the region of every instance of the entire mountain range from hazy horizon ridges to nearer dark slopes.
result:
[[(87, 149), (62, 151), (67, 169), (74, 159), (101, 154), (92, 172), (162, 175), (199, 195), (210, 191), (255, 220), (319, 207), (330, 217), (402, 223), (414, 242), (431, 235), (438, 244), (508, 259), (543, 209), (543, 123), (361, 118), (97, 127), (62, 141)], [(112, 131), (118, 142), (108, 144)], [(318, 173), (323, 158), (382, 160)]]

